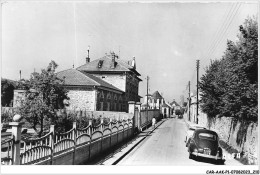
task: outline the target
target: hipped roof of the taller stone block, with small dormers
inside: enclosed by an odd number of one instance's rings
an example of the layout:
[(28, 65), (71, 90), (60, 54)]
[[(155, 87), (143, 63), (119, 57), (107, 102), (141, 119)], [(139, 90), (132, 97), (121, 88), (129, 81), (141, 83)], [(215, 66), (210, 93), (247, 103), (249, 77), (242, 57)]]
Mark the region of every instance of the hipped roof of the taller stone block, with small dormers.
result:
[[(99, 66), (100, 64), (100, 66)], [(115, 59), (115, 67), (112, 66), (112, 57), (106, 55), (102, 58), (93, 60), (77, 68), (79, 71), (85, 72), (134, 72), (140, 75), (132, 66), (122, 59)]]

